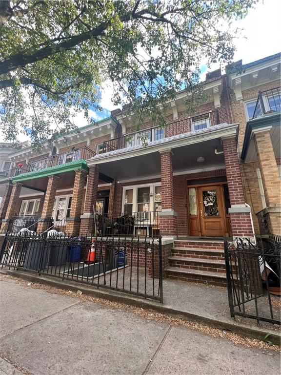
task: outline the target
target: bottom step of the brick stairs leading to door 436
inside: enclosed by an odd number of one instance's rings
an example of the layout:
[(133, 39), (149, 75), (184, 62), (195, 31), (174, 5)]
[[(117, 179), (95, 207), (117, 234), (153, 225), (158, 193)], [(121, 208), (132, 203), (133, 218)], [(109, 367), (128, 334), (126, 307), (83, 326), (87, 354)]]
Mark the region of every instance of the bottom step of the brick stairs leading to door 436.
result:
[(165, 275), (169, 279), (188, 281), (200, 284), (216, 285), (226, 287), (226, 274), (225, 272), (211, 272), (190, 270), (181, 267), (167, 267)]

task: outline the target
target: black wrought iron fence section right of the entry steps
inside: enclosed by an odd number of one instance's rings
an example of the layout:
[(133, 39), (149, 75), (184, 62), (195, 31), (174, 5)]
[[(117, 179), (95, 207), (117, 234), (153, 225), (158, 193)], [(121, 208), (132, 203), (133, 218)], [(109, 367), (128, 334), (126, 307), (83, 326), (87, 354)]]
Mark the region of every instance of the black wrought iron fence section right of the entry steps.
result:
[(231, 316), (281, 324), (280, 242), (262, 248), (246, 238), (224, 239), (224, 255)]

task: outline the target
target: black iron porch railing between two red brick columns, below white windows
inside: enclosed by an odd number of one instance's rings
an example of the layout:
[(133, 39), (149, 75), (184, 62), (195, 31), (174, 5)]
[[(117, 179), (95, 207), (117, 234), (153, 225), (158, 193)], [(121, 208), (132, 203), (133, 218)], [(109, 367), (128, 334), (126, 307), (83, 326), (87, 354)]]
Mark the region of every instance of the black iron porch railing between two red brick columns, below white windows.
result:
[(97, 214), (95, 232), (99, 235), (132, 235), (155, 237), (159, 235), (158, 211), (121, 213), (118, 217)]

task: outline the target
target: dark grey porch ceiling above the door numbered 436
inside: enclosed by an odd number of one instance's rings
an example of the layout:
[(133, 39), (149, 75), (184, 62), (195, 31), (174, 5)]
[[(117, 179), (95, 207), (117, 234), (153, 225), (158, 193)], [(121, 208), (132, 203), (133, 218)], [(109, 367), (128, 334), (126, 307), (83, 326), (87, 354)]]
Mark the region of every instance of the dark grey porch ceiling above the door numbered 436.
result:
[[(212, 167), (224, 166), (223, 154), (216, 155), (215, 148), (222, 150), (220, 138), (211, 139), (205, 142), (171, 148), (173, 172), (208, 170)], [(197, 158), (203, 157), (204, 162), (197, 162)], [(158, 151), (147, 153), (132, 158), (107, 161), (99, 164), (101, 173), (104, 173), (117, 180), (136, 179), (142, 177), (160, 177), (161, 156)]]

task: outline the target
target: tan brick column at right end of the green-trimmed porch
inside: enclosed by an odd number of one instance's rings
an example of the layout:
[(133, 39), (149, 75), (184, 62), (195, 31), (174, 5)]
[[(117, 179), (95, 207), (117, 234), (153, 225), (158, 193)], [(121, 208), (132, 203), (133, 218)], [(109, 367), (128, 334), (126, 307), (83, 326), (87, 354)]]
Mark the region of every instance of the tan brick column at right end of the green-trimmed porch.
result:
[(80, 215), (82, 210), (83, 192), (86, 183), (87, 172), (85, 170), (75, 171), (75, 180), (72, 193), (70, 217), (66, 218), (66, 233), (78, 234), (80, 229)]

